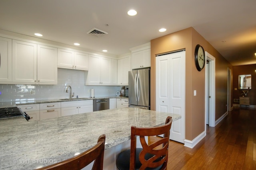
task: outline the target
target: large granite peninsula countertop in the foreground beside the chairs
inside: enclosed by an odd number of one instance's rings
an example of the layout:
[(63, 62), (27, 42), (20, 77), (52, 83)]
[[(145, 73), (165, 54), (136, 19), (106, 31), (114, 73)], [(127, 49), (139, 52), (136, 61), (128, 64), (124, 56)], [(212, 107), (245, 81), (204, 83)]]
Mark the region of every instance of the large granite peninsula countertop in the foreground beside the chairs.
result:
[(130, 140), (130, 127), (163, 125), (167, 116), (180, 115), (133, 107), (26, 121), (0, 120), (0, 169), (35, 169), (74, 156), (93, 147), (106, 135), (105, 149)]

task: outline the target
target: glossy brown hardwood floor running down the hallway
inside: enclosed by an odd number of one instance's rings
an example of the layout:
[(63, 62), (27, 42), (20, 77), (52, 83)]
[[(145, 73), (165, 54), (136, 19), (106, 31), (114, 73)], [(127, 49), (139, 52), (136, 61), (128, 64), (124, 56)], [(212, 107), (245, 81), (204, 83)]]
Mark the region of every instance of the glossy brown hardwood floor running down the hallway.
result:
[(256, 108), (234, 107), (193, 149), (170, 141), (168, 170), (256, 170)]

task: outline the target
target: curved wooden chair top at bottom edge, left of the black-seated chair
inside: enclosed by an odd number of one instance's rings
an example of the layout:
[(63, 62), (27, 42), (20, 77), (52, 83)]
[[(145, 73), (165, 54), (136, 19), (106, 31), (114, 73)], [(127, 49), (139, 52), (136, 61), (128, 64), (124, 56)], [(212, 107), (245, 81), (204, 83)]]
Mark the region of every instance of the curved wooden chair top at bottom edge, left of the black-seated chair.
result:
[(56, 164), (45, 166), (36, 170), (80, 170), (94, 160), (95, 161), (92, 170), (103, 170), (105, 139), (106, 135), (100, 135), (98, 138), (98, 143), (91, 149), (88, 149), (81, 154), (62, 162), (58, 162)]

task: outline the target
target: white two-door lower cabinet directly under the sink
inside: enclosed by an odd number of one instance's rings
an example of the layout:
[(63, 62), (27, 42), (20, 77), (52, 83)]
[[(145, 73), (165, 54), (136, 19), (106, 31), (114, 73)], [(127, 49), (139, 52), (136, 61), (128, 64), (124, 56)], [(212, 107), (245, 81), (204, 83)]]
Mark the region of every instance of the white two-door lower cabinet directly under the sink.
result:
[(93, 111), (93, 100), (61, 102), (61, 116), (88, 113)]

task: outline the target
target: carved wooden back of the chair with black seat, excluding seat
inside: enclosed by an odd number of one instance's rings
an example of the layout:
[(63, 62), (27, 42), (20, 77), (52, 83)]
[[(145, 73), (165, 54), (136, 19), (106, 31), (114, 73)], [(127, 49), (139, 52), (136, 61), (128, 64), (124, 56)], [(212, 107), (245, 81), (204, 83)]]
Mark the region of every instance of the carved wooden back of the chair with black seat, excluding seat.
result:
[[(136, 162), (136, 137), (139, 136), (142, 150), (139, 154), (139, 160), (142, 166), (140, 170), (145, 168), (156, 168), (161, 165), (162, 170), (167, 168), (168, 161), (168, 147), (170, 138), (170, 129), (172, 126), (172, 117), (166, 118), (165, 125), (159, 127), (134, 127), (131, 128), (131, 151), (130, 151), (130, 170), (135, 169)], [(162, 139), (154, 141), (148, 145), (145, 137), (164, 135)], [(150, 158), (147, 158), (151, 155)], [(145, 158), (146, 157), (146, 158)], [(146, 160), (147, 159), (147, 160)]]

